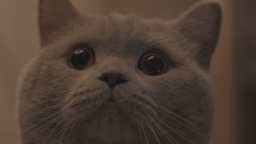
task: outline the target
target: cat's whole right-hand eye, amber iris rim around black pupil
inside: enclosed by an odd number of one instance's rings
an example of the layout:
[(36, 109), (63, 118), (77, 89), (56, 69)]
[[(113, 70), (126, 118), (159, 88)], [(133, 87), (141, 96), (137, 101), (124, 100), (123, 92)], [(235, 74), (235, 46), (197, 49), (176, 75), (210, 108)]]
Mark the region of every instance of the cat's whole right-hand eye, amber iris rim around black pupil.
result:
[(168, 70), (168, 63), (164, 56), (152, 52), (142, 56), (139, 68), (147, 75), (162, 75)]

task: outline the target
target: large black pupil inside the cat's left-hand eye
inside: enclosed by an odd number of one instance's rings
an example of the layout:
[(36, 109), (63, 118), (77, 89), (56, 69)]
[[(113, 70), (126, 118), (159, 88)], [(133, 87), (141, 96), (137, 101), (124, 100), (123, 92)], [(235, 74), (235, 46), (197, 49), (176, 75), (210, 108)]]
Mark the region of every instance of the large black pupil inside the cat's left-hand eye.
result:
[(89, 53), (84, 50), (76, 50), (71, 56), (71, 63), (77, 69), (84, 68), (90, 60)]

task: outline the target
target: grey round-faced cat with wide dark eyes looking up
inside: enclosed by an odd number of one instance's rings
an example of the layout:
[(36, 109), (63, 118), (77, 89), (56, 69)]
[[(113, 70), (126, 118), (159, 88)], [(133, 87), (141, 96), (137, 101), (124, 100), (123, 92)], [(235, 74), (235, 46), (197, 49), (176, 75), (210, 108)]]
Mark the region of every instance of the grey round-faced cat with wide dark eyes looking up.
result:
[(22, 143), (208, 143), (221, 22), (216, 1), (172, 20), (39, 1), (42, 49), (19, 83)]

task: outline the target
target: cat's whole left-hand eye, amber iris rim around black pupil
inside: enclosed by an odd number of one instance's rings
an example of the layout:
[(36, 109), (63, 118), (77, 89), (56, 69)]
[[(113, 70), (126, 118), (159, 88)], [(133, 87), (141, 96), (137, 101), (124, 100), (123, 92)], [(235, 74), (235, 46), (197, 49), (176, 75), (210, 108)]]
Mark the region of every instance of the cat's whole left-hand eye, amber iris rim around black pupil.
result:
[(94, 59), (94, 53), (90, 49), (77, 47), (69, 52), (67, 63), (72, 69), (84, 70), (94, 64)]

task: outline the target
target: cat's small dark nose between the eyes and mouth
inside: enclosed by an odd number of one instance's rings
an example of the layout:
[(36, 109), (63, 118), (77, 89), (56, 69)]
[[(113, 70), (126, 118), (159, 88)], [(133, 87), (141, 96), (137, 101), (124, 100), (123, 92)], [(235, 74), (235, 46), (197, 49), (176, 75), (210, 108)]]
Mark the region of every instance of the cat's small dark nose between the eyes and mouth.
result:
[(125, 79), (125, 76), (120, 73), (103, 73), (98, 79), (107, 82), (108, 86), (110, 88), (114, 88), (120, 83), (124, 83), (127, 80)]

